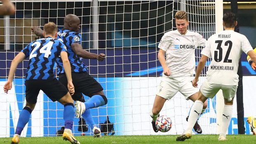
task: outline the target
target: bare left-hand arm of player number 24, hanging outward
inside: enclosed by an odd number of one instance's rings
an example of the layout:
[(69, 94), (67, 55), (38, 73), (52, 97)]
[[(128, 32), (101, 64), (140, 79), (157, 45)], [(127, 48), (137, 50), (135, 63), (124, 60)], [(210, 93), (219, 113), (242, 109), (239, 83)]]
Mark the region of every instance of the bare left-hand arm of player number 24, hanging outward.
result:
[(12, 64), (11, 64), (10, 71), (9, 71), (9, 76), (8, 76), (7, 82), (4, 85), (4, 92), (5, 93), (8, 93), (8, 90), (11, 90), (11, 88), (12, 88), (12, 80), (14, 78), (14, 73), (15, 73), (15, 71), (17, 69), (17, 66), (25, 58), (26, 58), (25, 54), (23, 52), (20, 52), (12, 60)]

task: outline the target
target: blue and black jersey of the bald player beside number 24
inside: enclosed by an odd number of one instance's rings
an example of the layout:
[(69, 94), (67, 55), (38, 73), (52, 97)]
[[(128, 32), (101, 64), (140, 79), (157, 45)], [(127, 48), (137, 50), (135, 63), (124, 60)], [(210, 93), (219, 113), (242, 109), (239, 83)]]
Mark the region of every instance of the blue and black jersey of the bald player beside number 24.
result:
[[(81, 57), (73, 52), (71, 45), (75, 42), (81, 44), (81, 35), (74, 31), (69, 31), (65, 29), (58, 29), (58, 39), (61, 39), (62, 42), (66, 45), (69, 61), (71, 65), (71, 72), (83, 72), (87, 71), (88, 67), (83, 64)], [(57, 74), (64, 73), (62, 59), (57, 58), (58, 71)]]

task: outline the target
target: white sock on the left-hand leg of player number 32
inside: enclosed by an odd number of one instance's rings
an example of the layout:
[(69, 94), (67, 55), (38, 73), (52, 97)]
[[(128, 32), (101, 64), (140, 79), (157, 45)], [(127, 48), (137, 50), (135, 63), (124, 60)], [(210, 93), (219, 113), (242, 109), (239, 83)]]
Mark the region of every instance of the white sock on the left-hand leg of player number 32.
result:
[(196, 100), (190, 110), (190, 116), (188, 117), (188, 124), (187, 124), (187, 130), (185, 131), (185, 133), (192, 133), (192, 128), (194, 127), (194, 124), (197, 122), (197, 119), (200, 116), (200, 113), (203, 109), (203, 105), (204, 103)]

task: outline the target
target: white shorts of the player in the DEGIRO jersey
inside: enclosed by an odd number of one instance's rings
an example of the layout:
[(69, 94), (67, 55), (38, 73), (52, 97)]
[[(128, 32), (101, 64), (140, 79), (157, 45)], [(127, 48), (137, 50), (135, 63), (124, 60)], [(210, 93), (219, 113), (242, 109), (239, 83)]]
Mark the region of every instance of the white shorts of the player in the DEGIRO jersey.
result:
[(197, 87), (192, 86), (193, 79), (193, 77), (168, 78), (163, 76), (157, 87), (156, 95), (169, 100), (179, 91), (188, 100), (188, 97), (199, 91)]

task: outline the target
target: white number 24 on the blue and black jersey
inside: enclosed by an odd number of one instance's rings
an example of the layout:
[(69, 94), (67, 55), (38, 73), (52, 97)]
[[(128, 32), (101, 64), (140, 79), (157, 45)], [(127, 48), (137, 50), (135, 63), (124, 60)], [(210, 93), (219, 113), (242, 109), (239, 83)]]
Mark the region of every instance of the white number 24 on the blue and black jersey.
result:
[[(29, 59), (33, 58), (33, 57), (36, 57), (37, 54), (34, 54), (36, 52), (36, 50), (38, 50), (38, 48), (40, 47), (41, 43), (40, 42), (34, 42), (31, 46), (33, 47), (34, 45), (36, 45), (36, 47), (32, 50), (30, 56), (29, 56)], [(45, 54), (44, 57), (48, 58), (49, 55), (51, 55), (51, 49), (52, 49), (52, 45), (53, 45), (53, 42), (50, 41), (50, 42), (47, 42), (46, 45), (44, 45), (41, 49), (40, 49), (40, 53), (41, 54)], [(46, 49), (46, 50), (45, 50)]]

